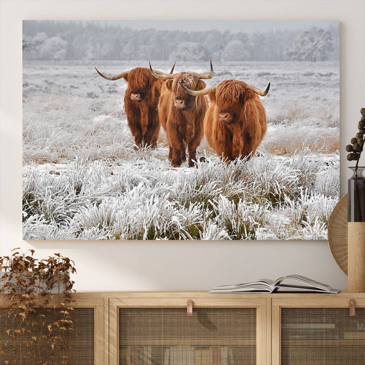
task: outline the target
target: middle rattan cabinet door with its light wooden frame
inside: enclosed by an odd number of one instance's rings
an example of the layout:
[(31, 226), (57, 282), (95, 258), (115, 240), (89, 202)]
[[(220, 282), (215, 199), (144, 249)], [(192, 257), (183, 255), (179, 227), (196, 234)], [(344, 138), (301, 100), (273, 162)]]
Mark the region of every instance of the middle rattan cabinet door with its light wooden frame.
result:
[(266, 364), (266, 354), (258, 347), (259, 338), (264, 339), (262, 347), (266, 342), (266, 329), (262, 330), (266, 325), (262, 310), (266, 306), (213, 305), (194, 307), (192, 316), (187, 315), (186, 307), (112, 308), (115, 315), (109, 316), (109, 323), (117, 323), (117, 341), (111, 339), (109, 343), (112, 348), (113, 343), (117, 345), (115, 351), (111, 350), (109, 364)]

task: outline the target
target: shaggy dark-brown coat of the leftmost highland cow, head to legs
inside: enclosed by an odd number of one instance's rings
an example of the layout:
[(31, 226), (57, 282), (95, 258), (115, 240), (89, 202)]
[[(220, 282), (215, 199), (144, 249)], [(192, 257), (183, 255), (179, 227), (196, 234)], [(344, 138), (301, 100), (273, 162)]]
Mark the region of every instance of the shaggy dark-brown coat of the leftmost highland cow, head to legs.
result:
[[(130, 70), (124, 79), (128, 83), (124, 107), (135, 148), (144, 145), (156, 148), (160, 133), (157, 104), (163, 81), (155, 79), (151, 70), (144, 67)], [(141, 100), (132, 99), (132, 94), (139, 94)]]

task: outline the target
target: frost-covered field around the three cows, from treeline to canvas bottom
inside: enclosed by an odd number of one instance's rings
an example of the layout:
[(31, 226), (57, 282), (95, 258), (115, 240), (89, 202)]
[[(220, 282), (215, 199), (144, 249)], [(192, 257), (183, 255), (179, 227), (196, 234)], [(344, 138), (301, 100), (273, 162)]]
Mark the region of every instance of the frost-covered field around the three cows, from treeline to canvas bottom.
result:
[[(168, 72), (172, 62), (152, 63)], [(133, 149), (124, 80), (148, 61), (24, 61), (24, 239), (326, 239), (339, 199), (339, 63), (214, 63), (225, 79), (265, 89), (266, 137), (226, 165), (203, 139), (198, 168)], [(175, 71), (208, 72), (208, 62)]]

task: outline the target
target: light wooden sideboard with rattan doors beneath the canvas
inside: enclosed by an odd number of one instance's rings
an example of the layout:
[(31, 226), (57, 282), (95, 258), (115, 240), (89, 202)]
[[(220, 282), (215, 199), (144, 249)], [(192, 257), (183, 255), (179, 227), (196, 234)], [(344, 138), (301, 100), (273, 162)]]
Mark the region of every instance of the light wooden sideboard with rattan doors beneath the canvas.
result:
[[(73, 297), (76, 309), (89, 310), (75, 312), (82, 335), (70, 344), (78, 354), (89, 348), (93, 360), (80, 355), (72, 365), (365, 364), (365, 293), (85, 291)], [(0, 320), (0, 344), (4, 332)]]

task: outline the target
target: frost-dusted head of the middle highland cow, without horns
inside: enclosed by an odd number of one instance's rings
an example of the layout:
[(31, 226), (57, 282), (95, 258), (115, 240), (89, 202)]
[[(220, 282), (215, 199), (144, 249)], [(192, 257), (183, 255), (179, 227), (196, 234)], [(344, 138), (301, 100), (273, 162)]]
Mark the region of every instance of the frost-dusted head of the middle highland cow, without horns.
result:
[(195, 106), (196, 96), (188, 94), (181, 85), (191, 90), (203, 90), (206, 86), (204, 81), (199, 80), (195, 72), (180, 72), (172, 80), (166, 80), (165, 86), (174, 96), (173, 107), (181, 111), (188, 110)]

